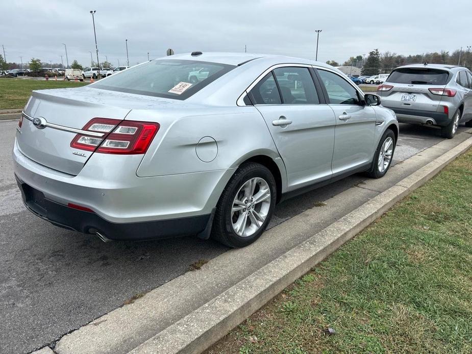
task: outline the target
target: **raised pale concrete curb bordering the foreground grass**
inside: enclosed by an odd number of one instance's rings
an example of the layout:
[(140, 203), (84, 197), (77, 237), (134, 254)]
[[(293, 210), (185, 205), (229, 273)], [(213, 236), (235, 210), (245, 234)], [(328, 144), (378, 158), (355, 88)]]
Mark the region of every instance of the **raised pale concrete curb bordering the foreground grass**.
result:
[(396, 202), (430, 180), (470, 146), (472, 137), (246, 277), (130, 353), (199, 353), (207, 349)]

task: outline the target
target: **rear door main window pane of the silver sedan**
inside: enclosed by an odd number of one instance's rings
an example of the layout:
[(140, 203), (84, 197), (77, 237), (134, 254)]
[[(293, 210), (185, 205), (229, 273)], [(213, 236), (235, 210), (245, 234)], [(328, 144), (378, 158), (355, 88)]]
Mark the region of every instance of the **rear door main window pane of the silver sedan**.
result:
[(308, 68), (274, 69), (284, 105), (319, 104), (315, 84)]

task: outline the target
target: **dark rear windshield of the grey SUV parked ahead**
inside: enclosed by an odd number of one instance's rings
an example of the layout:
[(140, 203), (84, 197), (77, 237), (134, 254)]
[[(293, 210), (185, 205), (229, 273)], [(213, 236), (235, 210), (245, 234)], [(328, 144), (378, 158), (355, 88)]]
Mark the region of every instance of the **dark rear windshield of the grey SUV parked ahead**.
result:
[(429, 68), (403, 68), (392, 71), (387, 82), (413, 85), (445, 85), (449, 72)]

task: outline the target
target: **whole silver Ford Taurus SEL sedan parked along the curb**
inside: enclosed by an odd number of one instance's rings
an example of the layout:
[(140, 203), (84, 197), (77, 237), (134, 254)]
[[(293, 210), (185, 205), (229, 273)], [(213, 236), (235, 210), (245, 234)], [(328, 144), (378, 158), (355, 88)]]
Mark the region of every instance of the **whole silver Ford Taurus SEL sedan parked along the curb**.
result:
[[(192, 84), (195, 67), (209, 74)], [(379, 105), (325, 63), (173, 55), (85, 87), (33, 91), (14, 170), (27, 208), (69, 230), (102, 240), (211, 235), (240, 247), (280, 200), (387, 172), (399, 128)]]

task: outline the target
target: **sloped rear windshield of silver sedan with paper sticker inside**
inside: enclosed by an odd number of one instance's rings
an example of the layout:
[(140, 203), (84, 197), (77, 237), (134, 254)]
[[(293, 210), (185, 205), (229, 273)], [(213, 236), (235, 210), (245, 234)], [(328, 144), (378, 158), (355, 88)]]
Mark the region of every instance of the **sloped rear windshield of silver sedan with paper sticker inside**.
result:
[(193, 60), (153, 60), (122, 70), (90, 87), (186, 99), (233, 68), (234, 65)]

